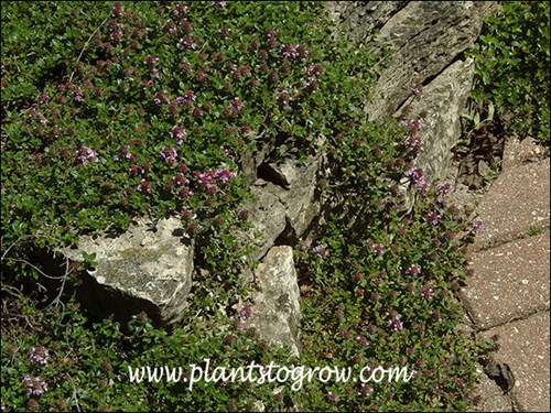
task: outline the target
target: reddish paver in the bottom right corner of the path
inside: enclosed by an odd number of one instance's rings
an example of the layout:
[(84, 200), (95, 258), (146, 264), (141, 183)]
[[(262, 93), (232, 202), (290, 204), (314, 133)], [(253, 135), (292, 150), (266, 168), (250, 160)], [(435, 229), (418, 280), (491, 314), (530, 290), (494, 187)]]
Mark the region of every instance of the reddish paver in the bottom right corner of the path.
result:
[(499, 336), (497, 359), (515, 374), (511, 394), (519, 411), (551, 411), (549, 322), (547, 311), (480, 334), (483, 338)]

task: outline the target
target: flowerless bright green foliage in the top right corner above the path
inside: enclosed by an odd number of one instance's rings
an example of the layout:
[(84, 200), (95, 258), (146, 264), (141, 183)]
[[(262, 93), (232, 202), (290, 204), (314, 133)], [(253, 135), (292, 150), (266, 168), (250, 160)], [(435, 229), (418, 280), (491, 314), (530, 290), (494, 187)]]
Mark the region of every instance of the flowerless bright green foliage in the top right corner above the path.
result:
[(551, 7), (548, 1), (499, 3), (469, 51), (476, 57), (472, 101), (483, 112), (497, 107), (517, 138), (549, 146)]

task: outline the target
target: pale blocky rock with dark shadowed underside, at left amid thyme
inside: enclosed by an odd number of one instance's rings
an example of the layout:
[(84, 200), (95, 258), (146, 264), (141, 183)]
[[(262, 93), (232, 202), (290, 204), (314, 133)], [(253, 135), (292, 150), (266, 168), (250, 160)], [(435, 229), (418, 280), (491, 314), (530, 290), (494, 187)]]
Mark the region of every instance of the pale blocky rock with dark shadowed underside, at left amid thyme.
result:
[(194, 249), (175, 218), (140, 221), (119, 237), (83, 237), (78, 249), (61, 251), (73, 261), (95, 253), (77, 297), (94, 314), (128, 320), (145, 311), (156, 325), (180, 319), (192, 286)]

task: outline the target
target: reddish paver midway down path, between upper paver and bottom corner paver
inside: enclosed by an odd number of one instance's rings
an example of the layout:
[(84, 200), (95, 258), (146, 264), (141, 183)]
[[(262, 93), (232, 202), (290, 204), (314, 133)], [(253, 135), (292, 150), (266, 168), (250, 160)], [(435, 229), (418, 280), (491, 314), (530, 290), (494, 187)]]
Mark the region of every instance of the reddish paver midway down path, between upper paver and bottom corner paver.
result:
[(473, 253), (461, 295), (475, 324), (486, 329), (549, 308), (549, 229)]

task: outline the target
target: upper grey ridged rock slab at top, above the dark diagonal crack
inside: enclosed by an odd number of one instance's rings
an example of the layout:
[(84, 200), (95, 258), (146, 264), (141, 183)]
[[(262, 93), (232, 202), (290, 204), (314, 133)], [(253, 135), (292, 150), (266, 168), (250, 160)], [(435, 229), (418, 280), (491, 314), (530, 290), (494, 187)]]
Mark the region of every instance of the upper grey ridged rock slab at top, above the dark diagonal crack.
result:
[(410, 96), (413, 84), (426, 87), (461, 57), (478, 37), (494, 7), (493, 1), (410, 1), (393, 14), (376, 39), (395, 53), (372, 102), (366, 106), (369, 119), (393, 113)]

